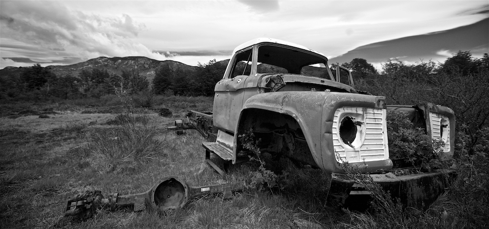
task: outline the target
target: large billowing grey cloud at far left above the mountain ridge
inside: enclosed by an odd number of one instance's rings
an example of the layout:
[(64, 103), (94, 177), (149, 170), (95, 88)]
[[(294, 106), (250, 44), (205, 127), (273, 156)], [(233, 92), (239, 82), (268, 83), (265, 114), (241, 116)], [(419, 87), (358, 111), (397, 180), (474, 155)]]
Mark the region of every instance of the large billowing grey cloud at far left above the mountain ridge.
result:
[[(73, 57), (87, 60), (99, 56), (167, 59), (135, 41), (146, 26), (128, 14), (119, 17), (86, 14), (69, 10), (55, 1), (1, 1), (0, 29), (2, 57), (7, 59), (13, 57), (7, 56), (8, 50), (14, 53), (14, 49), (16, 53), (23, 53), (15, 57), (31, 60), (39, 58), (33, 53), (35, 49), (44, 49), (48, 55), (61, 55), (57, 56), (58, 60)], [(2, 61), (2, 66), (13, 61), (8, 60)]]

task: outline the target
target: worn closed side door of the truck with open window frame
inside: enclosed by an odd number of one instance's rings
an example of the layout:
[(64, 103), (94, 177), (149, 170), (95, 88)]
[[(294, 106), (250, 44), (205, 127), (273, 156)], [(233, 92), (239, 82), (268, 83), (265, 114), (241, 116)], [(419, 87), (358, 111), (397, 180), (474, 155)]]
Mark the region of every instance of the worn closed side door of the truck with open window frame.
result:
[(214, 125), (234, 132), (243, 107), (244, 82), (251, 73), (252, 47), (237, 52), (230, 71), (216, 84), (213, 107)]

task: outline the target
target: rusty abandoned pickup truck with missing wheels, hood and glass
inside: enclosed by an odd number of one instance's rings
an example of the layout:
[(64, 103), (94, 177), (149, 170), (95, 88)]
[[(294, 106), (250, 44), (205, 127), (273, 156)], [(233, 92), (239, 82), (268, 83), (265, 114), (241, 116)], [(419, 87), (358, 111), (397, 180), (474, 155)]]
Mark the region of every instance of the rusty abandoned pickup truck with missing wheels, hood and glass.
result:
[[(348, 77), (342, 77), (341, 71)], [(215, 86), (213, 112), (190, 111), (169, 128), (178, 133), (193, 128), (206, 137), (214, 136), (215, 142), (203, 143), (206, 159), (214, 153), (235, 164), (244, 150), (238, 136), (252, 130), (261, 139), (263, 152), (321, 168), (336, 180), (344, 173), (340, 164), (348, 162), (365, 172), (384, 171), (373, 176), (378, 183), (394, 184), (397, 189), (422, 183), (425, 194), (421, 195), (430, 196), (420, 198), (438, 195), (444, 184), (433, 181), (433, 174), (385, 173), (393, 168), (387, 110), (406, 112), (415, 126), (443, 142), (444, 160), (452, 157), (455, 116), (450, 108), (431, 103), (386, 105), (385, 97), (357, 91), (348, 69), (338, 66), (333, 74), (323, 54), (290, 42), (258, 38), (234, 49)], [(212, 161), (207, 162), (222, 173)], [(355, 193), (353, 185), (347, 185), (350, 194)]]

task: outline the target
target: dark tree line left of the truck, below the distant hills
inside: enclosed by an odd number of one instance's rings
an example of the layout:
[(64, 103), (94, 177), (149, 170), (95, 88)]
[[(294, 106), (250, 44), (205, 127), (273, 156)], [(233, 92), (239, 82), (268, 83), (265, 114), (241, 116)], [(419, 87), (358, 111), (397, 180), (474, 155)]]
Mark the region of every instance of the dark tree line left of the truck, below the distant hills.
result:
[(150, 83), (135, 69), (110, 74), (107, 69), (83, 69), (77, 75), (57, 76), (39, 63), (22, 68), (19, 76), (0, 77), (0, 100), (32, 101), (48, 98), (100, 98), (125, 93), (154, 93), (181, 96), (212, 96), (227, 62), (211, 60), (194, 68), (162, 65)]

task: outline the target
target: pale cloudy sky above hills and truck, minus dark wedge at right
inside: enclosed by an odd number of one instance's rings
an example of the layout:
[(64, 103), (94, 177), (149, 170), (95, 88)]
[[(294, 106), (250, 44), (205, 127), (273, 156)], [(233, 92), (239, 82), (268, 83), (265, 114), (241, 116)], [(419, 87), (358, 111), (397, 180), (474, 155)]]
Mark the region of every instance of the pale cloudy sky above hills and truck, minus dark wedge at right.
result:
[[(258, 37), (302, 44), (334, 58), (360, 46), (488, 17), (488, 0), (0, 0), (0, 68), (100, 56), (145, 56), (195, 66), (228, 59), (237, 45)], [(479, 49), (474, 57), (488, 49), (473, 48)], [(443, 61), (458, 51), (439, 49), (429, 58)]]

